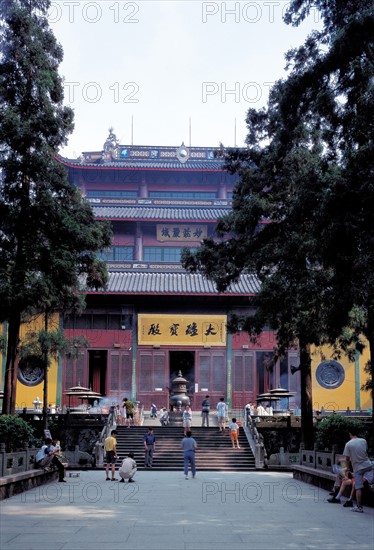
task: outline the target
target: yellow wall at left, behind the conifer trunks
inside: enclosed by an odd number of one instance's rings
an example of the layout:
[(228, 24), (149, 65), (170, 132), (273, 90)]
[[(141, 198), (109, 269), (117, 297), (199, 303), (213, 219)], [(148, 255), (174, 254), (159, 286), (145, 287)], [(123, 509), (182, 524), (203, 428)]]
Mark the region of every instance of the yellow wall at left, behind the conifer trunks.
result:
[[(43, 328), (43, 318), (38, 317), (35, 321), (21, 326), (20, 338), (21, 341), (26, 338), (28, 332), (37, 331)], [(49, 321), (49, 329), (58, 329), (58, 315), (54, 316), (52, 321)], [(0, 334), (3, 331), (3, 327), (0, 326)], [(5, 359), (0, 354), (0, 367), (1, 367), (1, 379), (4, 380)], [(56, 404), (57, 393), (57, 373), (58, 362), (55, 359), (51, 360), (50, 367), (48, 369), (48, 401), (49, 403)], [(43, 382), (36, 386), (26, 386), (19, 380), (17, 381), (17, 395), (16, 395), (16, 408), (22, 409), (23, 407), (33, 408), (33, 401), (36, 397), (39, 397), (40, 401), (43, 401)]]

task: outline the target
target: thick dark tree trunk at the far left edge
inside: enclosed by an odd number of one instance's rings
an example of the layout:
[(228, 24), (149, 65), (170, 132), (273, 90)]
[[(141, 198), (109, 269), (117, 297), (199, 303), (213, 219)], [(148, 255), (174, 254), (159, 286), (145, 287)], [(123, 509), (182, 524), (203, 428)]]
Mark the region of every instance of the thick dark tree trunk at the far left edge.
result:
[(16, 411), (17, 377), (18, 377), (18, 343), (21, 326), (21, 314), (13, 312), (8, 323), (8, 341), (5, 363), (3, 414), (14, 414)]

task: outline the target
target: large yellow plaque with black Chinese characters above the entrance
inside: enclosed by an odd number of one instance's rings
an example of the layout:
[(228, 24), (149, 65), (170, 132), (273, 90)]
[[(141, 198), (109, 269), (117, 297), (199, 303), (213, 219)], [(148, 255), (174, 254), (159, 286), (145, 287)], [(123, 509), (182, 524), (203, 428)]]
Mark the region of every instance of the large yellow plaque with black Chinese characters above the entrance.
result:
[(225, 346), (226, 315), (138, 315), (140, 345)]

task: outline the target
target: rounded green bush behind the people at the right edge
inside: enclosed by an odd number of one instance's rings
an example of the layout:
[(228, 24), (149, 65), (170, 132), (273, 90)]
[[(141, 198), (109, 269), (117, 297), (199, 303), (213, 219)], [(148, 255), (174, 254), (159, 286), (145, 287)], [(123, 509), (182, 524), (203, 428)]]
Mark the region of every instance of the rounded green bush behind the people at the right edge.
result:
[(339, 453), (344, 450), (344, 445), (349, 441), (350, 428), (358, 428), (364, 435), (364, 426), (360, 420), (333, 414), (328, 418), (324, 418), (317, 424), (316, 428), (316, 443), (320, 450), (332, 450), (332, 446), (336, 445)]

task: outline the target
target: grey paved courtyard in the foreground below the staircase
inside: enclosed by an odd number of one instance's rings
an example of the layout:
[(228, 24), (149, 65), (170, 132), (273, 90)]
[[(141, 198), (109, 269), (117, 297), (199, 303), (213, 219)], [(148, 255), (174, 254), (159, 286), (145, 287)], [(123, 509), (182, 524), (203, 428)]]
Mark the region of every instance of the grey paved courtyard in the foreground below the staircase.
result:
[(374, 509), (288, 472), (81, 472), (1, 502), (1, 550), (373, 550)]

